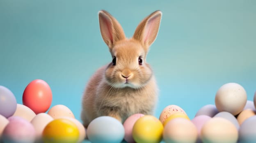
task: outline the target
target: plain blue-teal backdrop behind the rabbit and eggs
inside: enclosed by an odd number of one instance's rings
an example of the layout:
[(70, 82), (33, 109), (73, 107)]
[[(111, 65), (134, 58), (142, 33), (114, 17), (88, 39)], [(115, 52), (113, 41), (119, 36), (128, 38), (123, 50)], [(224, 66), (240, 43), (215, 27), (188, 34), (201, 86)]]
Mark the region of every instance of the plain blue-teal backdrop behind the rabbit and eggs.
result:
[(22, 103), (34, 79), (53, 92), (53, 105), (80, 119), (90, 76), (111, 62), (101, 38), (98, 11), (109, 11), (131, 37), (139, 22), (161, 10), (158, 37), (147, 62), (160, 88), (155, 116), (178, 105), (193, 118), (225, 83), (235, 82), (253, 100), (256, 91), (255, 0), (0, 0), (0, 85)]

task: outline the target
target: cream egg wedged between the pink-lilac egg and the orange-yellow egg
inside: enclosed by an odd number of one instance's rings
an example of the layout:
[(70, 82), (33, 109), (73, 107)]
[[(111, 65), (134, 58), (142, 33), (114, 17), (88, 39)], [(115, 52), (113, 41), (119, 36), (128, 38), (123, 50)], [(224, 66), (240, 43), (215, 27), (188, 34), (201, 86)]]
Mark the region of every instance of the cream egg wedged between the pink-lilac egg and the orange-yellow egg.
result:
[(38, 139), (41, 138), (43, 129), (51, 121), (53, 121), (53, 117), (46, 113), (39, 113), (32, 119), (30, 123), (34, 126), (34, 129), (36, 130), (36, 136)]

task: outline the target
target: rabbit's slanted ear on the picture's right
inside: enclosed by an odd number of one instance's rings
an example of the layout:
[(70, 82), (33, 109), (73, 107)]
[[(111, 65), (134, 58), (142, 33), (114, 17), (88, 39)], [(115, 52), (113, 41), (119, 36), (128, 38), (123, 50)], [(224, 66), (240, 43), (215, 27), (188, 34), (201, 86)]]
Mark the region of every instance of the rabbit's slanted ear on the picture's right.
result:
[(151, 13), (139, 23), (133, 34), (133, 38), (142, 42), (142, 45), (144, 45), (146, 48), (149, 48), (149, 46), (155, 41), (158, 34), (161, 17), (161, 11)]

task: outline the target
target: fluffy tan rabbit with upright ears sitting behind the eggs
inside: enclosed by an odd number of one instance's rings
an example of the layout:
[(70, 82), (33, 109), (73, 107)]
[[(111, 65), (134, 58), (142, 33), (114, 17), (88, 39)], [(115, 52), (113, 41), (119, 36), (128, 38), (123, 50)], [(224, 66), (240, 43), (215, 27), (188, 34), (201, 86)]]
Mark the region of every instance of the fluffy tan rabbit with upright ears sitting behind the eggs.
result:
[(111, 116), (123, 123), (136, 113), (154, 114), (158, 86), (146, 55), (157, 37), (161, 17), (161, 11), (151, 13), (128, 39), (110, 13), (98, 12), (101, 36), (112, 62), (99, 68), (85, 88), (81, 111), (85, 127), (99, 116)]

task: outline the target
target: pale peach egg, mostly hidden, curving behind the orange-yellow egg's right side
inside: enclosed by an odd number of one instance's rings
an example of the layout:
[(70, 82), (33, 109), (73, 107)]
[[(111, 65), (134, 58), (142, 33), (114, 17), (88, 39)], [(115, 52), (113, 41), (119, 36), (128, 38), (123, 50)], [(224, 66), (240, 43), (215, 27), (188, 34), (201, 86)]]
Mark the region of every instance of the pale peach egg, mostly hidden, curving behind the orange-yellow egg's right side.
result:
[(86, 138), (85, 127), (82, 125), (82, 123), (79, 122), (77, 119), (71, 118), (71, 117), (60, 117), (60, 118), (67, 119), (67, 120), (75, 123), (75, 125), (78, 127), (78, 130), (79, 130), (78, 143), (82, 143), (82, 141), (85, 140), (85, 138)]

